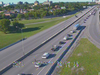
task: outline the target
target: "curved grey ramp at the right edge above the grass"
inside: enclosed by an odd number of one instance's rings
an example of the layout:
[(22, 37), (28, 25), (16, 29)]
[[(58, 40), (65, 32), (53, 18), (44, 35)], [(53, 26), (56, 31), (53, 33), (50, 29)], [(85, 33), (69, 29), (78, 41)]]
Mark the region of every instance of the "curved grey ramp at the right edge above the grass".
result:
[(99, 10), (95, 15), (92, 15), (88, 22), (87, 30), (85, 32), (87, 38), (98, 48), (100, 48), (100, 22)]

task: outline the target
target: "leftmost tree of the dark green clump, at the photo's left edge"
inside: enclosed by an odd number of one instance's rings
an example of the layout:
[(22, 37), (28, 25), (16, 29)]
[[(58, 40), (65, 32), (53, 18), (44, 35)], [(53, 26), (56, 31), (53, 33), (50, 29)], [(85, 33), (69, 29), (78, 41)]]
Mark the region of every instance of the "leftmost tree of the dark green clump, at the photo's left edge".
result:
[(10, 21), (8, 19), (0, 20), (0, 30), (3, 31), (5, 34), (10, 29)]

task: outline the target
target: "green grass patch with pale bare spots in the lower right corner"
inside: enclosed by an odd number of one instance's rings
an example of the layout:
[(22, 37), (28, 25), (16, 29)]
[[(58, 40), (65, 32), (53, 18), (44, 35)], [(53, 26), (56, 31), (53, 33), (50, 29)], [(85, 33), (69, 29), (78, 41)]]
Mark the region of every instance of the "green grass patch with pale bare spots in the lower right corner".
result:
[[(68, 66), (69, 64), (69, 66)], [(99, 75), (100, 49), (88, 39), (82, 39), (61, 68), (60, 75)]]

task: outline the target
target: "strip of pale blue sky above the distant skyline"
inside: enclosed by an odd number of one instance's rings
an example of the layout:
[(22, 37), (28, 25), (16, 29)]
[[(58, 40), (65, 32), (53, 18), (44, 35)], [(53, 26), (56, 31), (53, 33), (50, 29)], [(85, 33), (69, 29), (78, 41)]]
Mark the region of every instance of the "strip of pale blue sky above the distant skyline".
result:
[[(10, 0), (10, 2), (8, 0), (3, 0), (3, 1), (0, 1), (0, 2), (3, 2), (3, 3), (14, 3), (14, 4), (17, 4), (19, 1), (21, 2), (28, 2), (28, 3), (34, 3), (36, 0), (28, 0), (28, 1), (25, 1), (25, 0), (17, 0), (17, 1), (14, 1), (14, 0)], [(47, 0), (37, 0), (39, 1), (39, 3), (43, 3), (44, 1), (47, 1)], [(69, 1), (69, 0), (49, 0), (49, 1), (53, 1), (53, 2), (92, 2), (92, 0), (72, 0), (72, 1)]]

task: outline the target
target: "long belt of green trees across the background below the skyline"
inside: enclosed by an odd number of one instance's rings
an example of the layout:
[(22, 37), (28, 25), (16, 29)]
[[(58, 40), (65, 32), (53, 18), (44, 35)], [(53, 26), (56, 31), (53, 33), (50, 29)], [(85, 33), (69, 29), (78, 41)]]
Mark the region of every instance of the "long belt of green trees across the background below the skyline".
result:
[[(88, 2), (59, 2), (59, 3), (53, 3), (50, 6), (49, 5), (42, 5), (41, 3), (37, 6), (31, 7), (33, 4), (17, 4), (15, 6), (10, 5), (7, 7), (1, 7), (0, 10), (14, 10), (14, 9), (20, 9), (20, 10), (27, 10), (28, 9), (34, 9), (33, 11), (28, 11), (25, 14), (19, 14), (15, 11), (15, 14), (12, 14), (11, 16), (5, 16), (3, 13), (0, 14), (0, 19), (28, 19), (28, 18), (43, 18), (45, 16), (57, 16), (61, 14), (66, 14), (69, 11), (73, 10), (81, 10), (83, 9), (83, 6), (91, 6), (95, 5), (95, 3), (88, 3)], [(57, 8), (55, 7), (57, 5)], [(66, 7), (66, 9), (58, 9), (61, 7)]]

